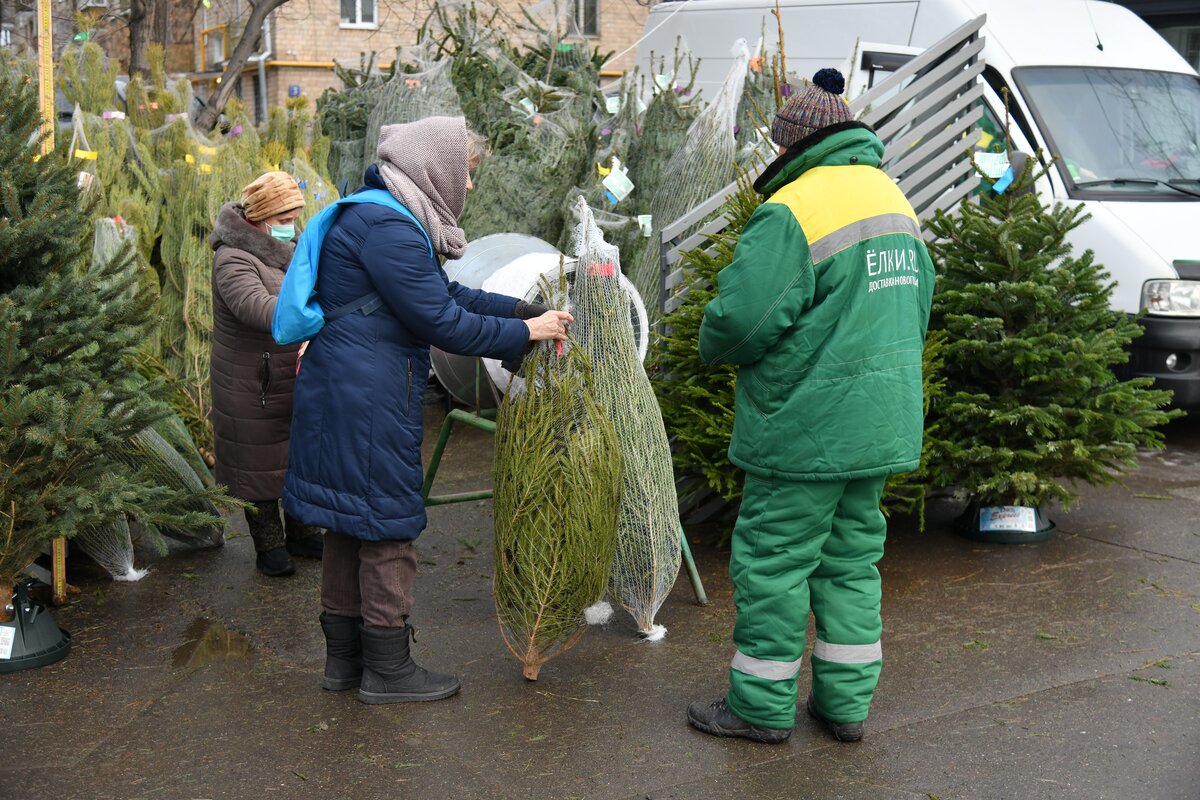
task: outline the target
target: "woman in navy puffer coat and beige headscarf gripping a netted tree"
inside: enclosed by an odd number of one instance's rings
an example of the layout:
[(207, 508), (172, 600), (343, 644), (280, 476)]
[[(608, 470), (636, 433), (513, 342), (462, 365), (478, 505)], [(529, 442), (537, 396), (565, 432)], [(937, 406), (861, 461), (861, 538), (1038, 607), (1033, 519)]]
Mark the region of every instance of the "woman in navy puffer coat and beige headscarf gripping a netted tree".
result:
[[(384, 190), (412, 217), (347, 205), (320, 245), (317, 295), (332, 319), (296, 380), (283, 507), (328, 530), (322, 569), (325, 675), (364, 703), (434, 700), (458, 691), (409, 652), (421, 498), (422, 404), (430, 345), (520, 359), (530, 341), (563, 339), (565, 312), (450, 283), (437, 260), (462, 255), (457, 227), (486, 142), (462, 118), (380, 130), (364, 190)], [(361, 191), (361, 190), (360, 190)], [(374, 297), (377, 295), (377, 297)], [(326, 312), (329, 313), (329, 312)]]

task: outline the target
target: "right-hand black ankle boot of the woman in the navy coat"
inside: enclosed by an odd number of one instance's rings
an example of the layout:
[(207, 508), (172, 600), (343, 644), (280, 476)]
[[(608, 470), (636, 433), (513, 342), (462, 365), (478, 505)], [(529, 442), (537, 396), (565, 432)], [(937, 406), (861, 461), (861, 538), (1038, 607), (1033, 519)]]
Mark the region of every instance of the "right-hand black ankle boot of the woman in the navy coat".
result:
[(454, 675), (416, 666), (408, 643), (413, 626), (359, 627), (362, 642), (362, 685), (359, 699), (367, 704), (440, 700), (461, 688)]

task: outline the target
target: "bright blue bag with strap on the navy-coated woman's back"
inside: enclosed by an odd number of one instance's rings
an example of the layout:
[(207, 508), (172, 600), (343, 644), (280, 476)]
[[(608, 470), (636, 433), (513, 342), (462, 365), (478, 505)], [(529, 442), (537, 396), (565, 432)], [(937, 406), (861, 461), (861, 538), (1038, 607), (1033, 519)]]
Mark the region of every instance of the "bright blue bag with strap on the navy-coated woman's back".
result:
[(337, 215), (342, 211), (342, 206), (356, 203), (383, 205), (412, 219), (416, 229), (425, 236), (425, 243), (430, 248), (430, 258), (433, 258), (433, 242), (425, 227), (413, 216), (412, 211), (391, 196), (391, 192), (365, 190), (325, 206), (308, 221), (300, 235), (300, 241), (296, 242), (292, 264), (283, 276), (283, 285), (280, 288), (280, 296), (275, 303), (275, 315), (271, 319), (271, 337), (280, 344), (296, 344), (311, 339), (320, 331), (326, 320), (344, 317), (360, 308), (364, 313), (371, 313), (383, 305), (378, 293), (374, 291), (352, 300), (329, 314), (323, 312), (317, 301), (317, 266), (320, 260), (322, 245), (325, 242), (329, 229), (334, 227)]

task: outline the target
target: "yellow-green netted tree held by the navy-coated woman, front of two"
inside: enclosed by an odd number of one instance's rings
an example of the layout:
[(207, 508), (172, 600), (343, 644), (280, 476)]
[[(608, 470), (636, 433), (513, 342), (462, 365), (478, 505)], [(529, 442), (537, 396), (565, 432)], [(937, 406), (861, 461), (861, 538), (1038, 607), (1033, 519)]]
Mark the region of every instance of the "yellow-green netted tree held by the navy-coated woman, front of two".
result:
[[(565, 307), (565, 275), (551, 306)], [(558, 302), (553, 300), (557, 299)], [(572, 342), (541, 342), (496, 419), (496, 610), (500, 634), (536, 680), (587, 628), (617, 546), (622, 456), (593, 399), (588, 359)]]

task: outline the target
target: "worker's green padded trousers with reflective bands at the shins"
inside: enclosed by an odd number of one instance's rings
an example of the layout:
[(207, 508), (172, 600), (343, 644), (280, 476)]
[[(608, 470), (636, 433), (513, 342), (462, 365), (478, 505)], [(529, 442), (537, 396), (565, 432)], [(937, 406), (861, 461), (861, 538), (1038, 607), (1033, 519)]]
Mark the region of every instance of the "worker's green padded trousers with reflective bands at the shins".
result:
[(725, 698), (746, 722), (796, 723), (796, 676), (810, 608), (817, 710), (834, 722), (866, 718), (883, 663), (875, 566), (887, 536), (883, 481), (746, 476), (730, 555), (738, 620)]

